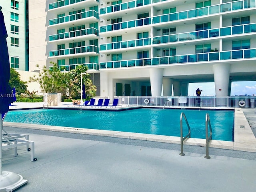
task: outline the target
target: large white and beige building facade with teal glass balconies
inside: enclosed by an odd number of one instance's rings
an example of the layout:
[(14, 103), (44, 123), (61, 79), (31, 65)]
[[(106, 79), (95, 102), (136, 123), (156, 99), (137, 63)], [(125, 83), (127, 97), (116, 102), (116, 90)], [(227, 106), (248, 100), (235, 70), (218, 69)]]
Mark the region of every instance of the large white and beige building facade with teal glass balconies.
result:
[[(30, 68), (88, 66), (97, 95), (186, 96), (256, 80), (255, 0), (36, 0)], [(33, 40), (32, 40), (33, 39)]]

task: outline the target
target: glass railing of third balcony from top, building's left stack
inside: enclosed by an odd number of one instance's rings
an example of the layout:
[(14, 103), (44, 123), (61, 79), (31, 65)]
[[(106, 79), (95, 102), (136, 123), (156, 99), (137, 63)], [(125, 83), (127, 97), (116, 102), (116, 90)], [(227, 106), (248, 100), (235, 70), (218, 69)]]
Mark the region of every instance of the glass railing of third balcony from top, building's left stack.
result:
[(90, 34), (99, 36), (99, 30), (97, 30), (96, 28), (88, 28), (88, 29), (81, 29), (81, 30), (76, 30), (76, 31), (70, 31), (70, 32), (49, 35), (49, 41), (90, 35)]

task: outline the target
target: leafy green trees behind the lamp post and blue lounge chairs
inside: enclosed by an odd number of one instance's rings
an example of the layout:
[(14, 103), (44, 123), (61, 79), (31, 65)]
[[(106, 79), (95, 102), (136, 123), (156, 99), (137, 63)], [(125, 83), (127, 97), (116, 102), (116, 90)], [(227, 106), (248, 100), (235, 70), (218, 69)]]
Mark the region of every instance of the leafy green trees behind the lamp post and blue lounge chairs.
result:
[(44, 93), (62, 93), (63, 96), (76, 97), (81, 94), (81, 73), (82, 82), (86, 87), (86, 94), (95, 96), (96, 86), (92, 84), (90, 80), (90, 74), (87, 73), (88, 68), (83, 65), (76, 66), (76, 69), (68, 72), (61, 72), (56, 63), (53, 64), (50, 69), (43, 67), (42, 72), (39, 76), (30, 77), (30, 82), (38, 82)]

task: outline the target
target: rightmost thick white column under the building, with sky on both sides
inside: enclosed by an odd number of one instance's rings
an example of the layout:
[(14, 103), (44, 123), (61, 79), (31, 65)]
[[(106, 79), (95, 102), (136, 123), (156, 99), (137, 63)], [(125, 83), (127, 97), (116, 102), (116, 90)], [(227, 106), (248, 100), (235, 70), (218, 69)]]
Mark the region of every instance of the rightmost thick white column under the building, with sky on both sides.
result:
[(228, 96), (230, 64), (213, 65), (216, 96)]

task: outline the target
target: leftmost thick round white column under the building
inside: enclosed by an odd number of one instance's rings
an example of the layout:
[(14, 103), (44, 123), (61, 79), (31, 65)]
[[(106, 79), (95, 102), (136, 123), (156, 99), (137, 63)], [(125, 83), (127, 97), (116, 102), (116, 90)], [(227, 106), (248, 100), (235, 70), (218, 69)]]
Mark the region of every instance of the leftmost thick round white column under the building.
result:
[(163, 73), (164, 69), (162, 68), (151, 68), (149, 70), (152, 96), (161, 96)]

